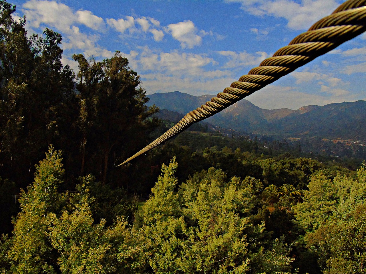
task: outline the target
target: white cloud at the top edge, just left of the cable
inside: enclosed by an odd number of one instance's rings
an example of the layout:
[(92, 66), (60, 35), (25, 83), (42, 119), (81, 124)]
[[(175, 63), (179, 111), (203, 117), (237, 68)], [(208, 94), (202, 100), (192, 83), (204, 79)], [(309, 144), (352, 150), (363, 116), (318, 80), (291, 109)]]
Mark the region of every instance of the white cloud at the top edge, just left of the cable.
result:
[(305, 30), (322, 17), (329, 15), (339, 5), (336, 0), (225, 0), (241, 3), (241, 8), (256, 16), (276, 16), (288, 20), (293, 30)]

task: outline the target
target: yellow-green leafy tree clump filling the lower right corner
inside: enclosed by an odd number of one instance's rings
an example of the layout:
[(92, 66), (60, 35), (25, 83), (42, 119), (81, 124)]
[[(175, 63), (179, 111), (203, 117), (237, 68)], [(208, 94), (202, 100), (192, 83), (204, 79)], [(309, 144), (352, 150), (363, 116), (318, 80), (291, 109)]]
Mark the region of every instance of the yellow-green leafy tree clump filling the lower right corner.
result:
[(296, 223), (323, 273), (365, 273), (365, 162), (356, 179), (326, 171), (312, 176), (303, 199), (294, 206)]

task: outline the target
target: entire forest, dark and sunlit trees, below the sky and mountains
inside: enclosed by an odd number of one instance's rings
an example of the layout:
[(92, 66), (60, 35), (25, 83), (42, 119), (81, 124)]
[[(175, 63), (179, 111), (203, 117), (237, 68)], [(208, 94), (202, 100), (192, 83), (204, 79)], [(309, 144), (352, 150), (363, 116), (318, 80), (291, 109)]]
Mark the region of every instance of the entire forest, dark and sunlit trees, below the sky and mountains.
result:
[[(365, 273), (366, 166), (168, 123), (116, 52), (61, 64), (0, 1), (0, 273)], [(166, 164), (164, 164), (166, 163)]]

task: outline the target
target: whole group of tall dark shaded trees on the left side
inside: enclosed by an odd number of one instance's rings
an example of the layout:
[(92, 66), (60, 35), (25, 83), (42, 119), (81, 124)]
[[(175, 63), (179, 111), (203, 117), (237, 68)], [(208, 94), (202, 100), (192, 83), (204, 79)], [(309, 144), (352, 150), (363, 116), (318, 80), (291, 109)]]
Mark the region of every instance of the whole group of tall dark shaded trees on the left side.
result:
[(107, 183), (114, 157), (145, 144), (156, 123), (146, 118), (157, 108), (146, 107), (139, 76), (119, 52), (101, 62), (74, 55), (75, 79), (61, 63), (61, 35), (46, 29), (29, 37), (14, 12), (0, 1), (1, 175), (26, 187), (52, 143), (71, 175), (65, 184), (91, 171)]

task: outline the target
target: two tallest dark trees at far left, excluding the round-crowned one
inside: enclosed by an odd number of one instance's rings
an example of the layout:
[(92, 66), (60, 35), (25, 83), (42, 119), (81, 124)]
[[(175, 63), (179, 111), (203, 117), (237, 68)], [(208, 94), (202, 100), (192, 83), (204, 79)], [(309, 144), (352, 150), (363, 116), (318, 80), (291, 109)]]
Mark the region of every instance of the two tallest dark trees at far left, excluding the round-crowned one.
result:
[(74, 74), (61, 64), (61, 35), (46, 29), (28, 38), (15, 11), (0, 1), (0, 171), (27, 183), (51, 142), (67, 151)]

